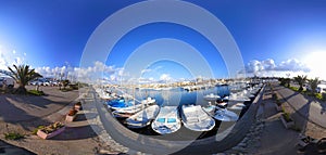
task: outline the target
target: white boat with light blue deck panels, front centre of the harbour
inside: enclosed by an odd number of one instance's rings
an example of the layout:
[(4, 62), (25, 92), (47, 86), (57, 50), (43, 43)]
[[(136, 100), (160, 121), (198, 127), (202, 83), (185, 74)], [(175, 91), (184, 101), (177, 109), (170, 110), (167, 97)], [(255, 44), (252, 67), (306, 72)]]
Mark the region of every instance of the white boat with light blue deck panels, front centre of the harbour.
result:
[(160, 134), (176, 132), (181, 128), (177, 106), (163, 106), (159, 115), (152, 121), (152, 129)]

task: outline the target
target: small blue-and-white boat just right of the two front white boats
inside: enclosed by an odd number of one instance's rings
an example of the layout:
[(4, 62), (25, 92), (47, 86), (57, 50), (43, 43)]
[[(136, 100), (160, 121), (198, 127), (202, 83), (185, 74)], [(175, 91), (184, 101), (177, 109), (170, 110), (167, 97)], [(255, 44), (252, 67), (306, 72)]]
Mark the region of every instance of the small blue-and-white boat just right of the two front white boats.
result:
[(224, 107), (216, 106), (216, 112), (214, 118), (221, 121), (237, 121), (239, 119), (239, 116), (230, 112)]

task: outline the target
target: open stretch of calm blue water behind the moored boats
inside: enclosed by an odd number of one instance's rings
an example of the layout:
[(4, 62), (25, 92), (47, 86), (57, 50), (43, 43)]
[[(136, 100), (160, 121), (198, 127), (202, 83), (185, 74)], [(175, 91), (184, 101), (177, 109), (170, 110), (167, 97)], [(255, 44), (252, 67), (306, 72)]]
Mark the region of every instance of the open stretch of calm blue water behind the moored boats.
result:
[[(123, 89), (122, 91), (134, 94), (134, 90)], [(203, 100), (203, 96), (210, 93), (218, 94), (220, 96), (228, 95), (229, 89), (227, 86), (212, 87), (209, 89), (202, 89), (197, 91), (186, 91), (181, 88), (174, 88), (170, 90), (153, 90), (153, 89), (136, 89), (135, 95), (138, 101), (146, 99), (147, 96), (154, 98), (159, 105), (164, 106), (178, 106), (184, 104), (198, 104), (206, 105), (208, 101)]]

